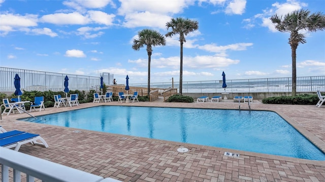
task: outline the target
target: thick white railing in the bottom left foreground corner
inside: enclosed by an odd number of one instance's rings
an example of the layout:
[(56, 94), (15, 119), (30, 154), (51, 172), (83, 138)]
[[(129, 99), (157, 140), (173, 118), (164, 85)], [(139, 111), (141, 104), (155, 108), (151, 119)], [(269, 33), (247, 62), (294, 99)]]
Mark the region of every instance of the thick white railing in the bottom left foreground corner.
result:
[[(118, 182), (113, 178), (84, 172), (68, 166), (57, 164), (41, 158), (30, 156), (11, 149), (0, 147), (0, 163), (2, 168), (2, 181), (88, 181), (88, 182)], [(9, 168), (12, 168), (9, 170)], [(24, 180), (21, 173), (26, 174)], [(12, 178), (12, 179), (11, 179)]]

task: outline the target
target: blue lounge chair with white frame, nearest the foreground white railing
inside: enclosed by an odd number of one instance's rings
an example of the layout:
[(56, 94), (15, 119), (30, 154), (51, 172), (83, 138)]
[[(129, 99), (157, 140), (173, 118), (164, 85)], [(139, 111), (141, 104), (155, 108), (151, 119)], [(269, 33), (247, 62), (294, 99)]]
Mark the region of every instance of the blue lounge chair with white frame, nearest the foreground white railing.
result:
[[(38, 142), (40, 141), (40, 142)], [(39, 135), (34, 133), (28, 133), (25, 131), (8, 131), (0, 133), (0, 146), (8, 149), (15, 148), (18, 151), (21, 145), (31, 143), (32, 145), (41, 145), (46, 148), (49, 146), (45, 140)]]

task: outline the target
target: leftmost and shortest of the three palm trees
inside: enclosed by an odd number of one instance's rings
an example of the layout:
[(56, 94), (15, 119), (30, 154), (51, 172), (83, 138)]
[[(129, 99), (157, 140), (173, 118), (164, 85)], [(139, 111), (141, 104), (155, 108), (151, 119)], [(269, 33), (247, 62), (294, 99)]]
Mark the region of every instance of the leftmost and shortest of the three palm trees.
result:
[(152, 46), (166, 45), (166, 39), (163, 34), (155, 30), (143, 29), (138, 32), (138, 39), (133, 40), (132, 49), (139, 51), (144, 45), (147, 45), (148, 53), (148, 97), (150, 94), (150, 61), (152, 54)]

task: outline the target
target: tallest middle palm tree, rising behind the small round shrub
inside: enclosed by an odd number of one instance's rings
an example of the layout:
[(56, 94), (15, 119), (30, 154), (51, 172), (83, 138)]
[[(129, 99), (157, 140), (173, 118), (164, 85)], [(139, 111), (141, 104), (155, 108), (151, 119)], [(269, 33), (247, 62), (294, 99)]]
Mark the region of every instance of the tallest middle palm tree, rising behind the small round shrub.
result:
[(199, 29), (199, 22), (190, 20), (188, 18), (172, 18), (170, 22), (166, 23), (167, 30), (172, 28), (172, 31), (166, 33), (166, 37), (172, 37), (175, 34), (179, 34), (179, 41), (181, 43), (181, 58), (179, 69), (179, 94), (182, 95), (183, 89), (183, 43), (186, 42), (185, 36), (197, 29)]

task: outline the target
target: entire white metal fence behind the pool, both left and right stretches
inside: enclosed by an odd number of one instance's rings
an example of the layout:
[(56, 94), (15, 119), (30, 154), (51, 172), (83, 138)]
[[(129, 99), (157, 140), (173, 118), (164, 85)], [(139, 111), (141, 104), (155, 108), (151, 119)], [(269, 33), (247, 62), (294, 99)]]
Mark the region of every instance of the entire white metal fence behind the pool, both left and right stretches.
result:
[[(64, 77), (69, 77), (69, 89), (89, 90), (99, 88), (100, 79), (96, 76), (62, 74), (45, 71), (0, 67), (0, 92), (15, 92), (14, 77), (18, 73), (22, 90), (60, 91), (64, 90)], [(102, 73), (104, 82), (112, 84), (113, 74)], [(150, 83), (151, 88), (179, 88), (179, 82)], [(183, 81), (182, 93), (287, 93), (291, 92), (291, 78), (256, 78), (226, 80), (227, 87), (222, 88), (222, 80)], [(96, 86), (97, 85), (97, 86)], [(147, 87), (147, 83), (130, 83), (130, 86)], [(325, 91), (325, 76), (297, 77), (297, 92)]]

